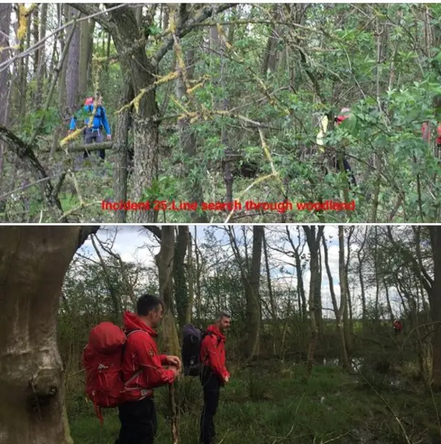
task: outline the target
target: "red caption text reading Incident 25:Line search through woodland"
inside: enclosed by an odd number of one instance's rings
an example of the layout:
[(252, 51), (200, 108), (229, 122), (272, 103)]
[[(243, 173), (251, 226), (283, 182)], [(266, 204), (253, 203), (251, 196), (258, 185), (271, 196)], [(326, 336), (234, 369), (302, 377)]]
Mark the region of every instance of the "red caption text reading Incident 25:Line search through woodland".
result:
[[(334, 202), (334, 200), (325, 200), (325, 202), (298, 202), (296, 204), (298, 211), (353, 211), (356, 208), (352, 202)], [(293, 211), (294, 205), (289, 200), (283, 202), (254, 202), (246, 200), (245, 202), (184, 202), (182, 200), (155, 200), (154, 202), (132, 202), (131, 200), (119, 202), (101, 202), (101, 208), (105, 211), (196, 211), (201, 208), (202, 211), (277, 211), (286, 213)]]

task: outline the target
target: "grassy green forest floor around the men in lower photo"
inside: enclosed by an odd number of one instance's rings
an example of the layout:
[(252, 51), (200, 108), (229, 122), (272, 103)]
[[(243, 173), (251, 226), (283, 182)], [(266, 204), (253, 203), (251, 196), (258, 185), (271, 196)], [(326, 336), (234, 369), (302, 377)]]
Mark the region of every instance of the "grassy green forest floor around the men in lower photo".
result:
[[(336, 360), (327, 360), (314, 366), (309, 381), (305, 366), (297, 363), (263, 361), (233, 372), (220, 393), (218, 443), (441, 443), (434, 406), (435, 402), (440, 410), (441, 396), (425, 394), (409, 371), (402, 368), (385, 375), (359, 366), (360, 372), (348, 374), (335, 364)], [(201, 394), (195, 378), (177, 387), (181, 444), (198, 444)], [(167, 389), (157, 389), (155, 398), (155, 443), (170, 444)], [(70, 392), (68, 415), (75, 444), (114, 443), (119, 432), (116, 409), (105, 412), (101, 427), (84, 395)]]

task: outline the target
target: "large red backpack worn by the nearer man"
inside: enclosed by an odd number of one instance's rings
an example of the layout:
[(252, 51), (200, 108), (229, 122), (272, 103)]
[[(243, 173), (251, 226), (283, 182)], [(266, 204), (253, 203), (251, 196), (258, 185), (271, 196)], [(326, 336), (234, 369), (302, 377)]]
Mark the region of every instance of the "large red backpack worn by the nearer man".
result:
[(124, 346), (127, 337), (136, 331), (139, 330), (132, 330), (125, 335), (119, 326), (107, 321), (101, 322), (90, 331), (88, 344), (83, 350), (85, 392), (94, 403), (96, 416), (101, 424), (101, 408), (112, 408), (121, 404), (121, 394), (126, 384), (121, 369)]

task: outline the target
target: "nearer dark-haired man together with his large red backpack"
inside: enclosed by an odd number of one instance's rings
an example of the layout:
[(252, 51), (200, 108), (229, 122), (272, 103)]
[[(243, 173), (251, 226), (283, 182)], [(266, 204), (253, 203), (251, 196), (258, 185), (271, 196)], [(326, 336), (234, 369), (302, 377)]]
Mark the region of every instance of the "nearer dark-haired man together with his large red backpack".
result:
[(163, 310), (161, 299), (142, 295), (137, 314), (124, 313), (123, 330), (103, 321), (92, 328), (83, 350), (85, 391), (100, 422), (102, 408), (119, 408), (121, 430), (116, 444), (154, 443), (153, 389), (172, 384), (181, 372), (181, 359), (159, 355), (154, 341)]

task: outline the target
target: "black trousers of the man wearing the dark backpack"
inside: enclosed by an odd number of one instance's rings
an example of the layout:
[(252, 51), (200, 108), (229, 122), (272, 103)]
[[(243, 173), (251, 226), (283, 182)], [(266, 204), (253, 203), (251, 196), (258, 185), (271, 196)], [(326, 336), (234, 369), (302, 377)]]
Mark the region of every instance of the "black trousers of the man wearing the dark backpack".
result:
[(204, 408), (201, 414), (201, 444), (213, 444), (216, 431), (214, 429), (214, 415), (218, 408), (220, 394), (220, 380), (205, 367), (201, 374), (201, 383), (204, 391)]

